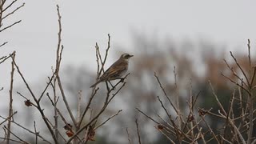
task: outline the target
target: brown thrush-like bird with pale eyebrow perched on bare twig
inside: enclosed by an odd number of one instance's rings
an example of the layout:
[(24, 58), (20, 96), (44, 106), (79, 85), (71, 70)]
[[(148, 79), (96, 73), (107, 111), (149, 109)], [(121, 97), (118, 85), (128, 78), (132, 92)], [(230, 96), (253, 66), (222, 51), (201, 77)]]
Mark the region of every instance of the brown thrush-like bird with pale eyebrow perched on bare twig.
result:
[(128, 70), (129, 65), (129, 59), (133, 57), (134, 55), (131, 54), (122, 54), (120, 58), (114, 62), (100, 78), (98, 78), (98, 81), (95, 82), (92, 86), (97, 86), (100, 82), (106, 82), (106, 81), (112, 81), (115, 79), (120, 79), (124, 74), (126, 74), (126, 71)]

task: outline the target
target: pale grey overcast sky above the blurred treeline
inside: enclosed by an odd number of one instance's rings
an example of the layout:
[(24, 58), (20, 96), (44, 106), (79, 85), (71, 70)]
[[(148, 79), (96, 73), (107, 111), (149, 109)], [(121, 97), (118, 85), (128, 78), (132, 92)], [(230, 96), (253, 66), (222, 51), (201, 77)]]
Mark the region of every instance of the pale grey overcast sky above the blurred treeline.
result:
[[(131, 30), (158, 34), (160, 39), (207, 38), (231, 48), (246, 46), (247, 38), (256, 42), (255, 1), (26, 0), (26, 6), (8, 19), (22, 19), (22, 23), (1, 33), (0, 42), (9, 42), (1, 48), (1, 55), (17, 51), (18, 65), (30, 82), (45, 78), (50, 66), (54, 66), (58, 42), (56, 4), (62, 14), (62, 66), (73, 64), (96, 70), (94, 45), (98, 42), (104, 48), (107, 34), (111, 35), (110, 60), (116, 58), (115, 46), (126, 46), (136, 55)], [(10, 64), (6, 62), (0, 66), (0, 79), (6, 82), (9, 78)]]

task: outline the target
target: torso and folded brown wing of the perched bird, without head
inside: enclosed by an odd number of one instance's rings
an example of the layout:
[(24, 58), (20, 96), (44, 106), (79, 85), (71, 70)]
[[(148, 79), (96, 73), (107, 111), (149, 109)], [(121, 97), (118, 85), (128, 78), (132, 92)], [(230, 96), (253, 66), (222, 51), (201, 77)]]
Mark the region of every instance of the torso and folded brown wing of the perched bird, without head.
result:
[(119, 77), (123, 71), (126, 71), (128, 63), (126, 61), (117, 61), (100, 78), (101, 81), (110, 80)]

